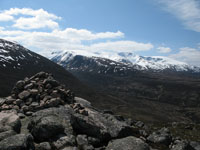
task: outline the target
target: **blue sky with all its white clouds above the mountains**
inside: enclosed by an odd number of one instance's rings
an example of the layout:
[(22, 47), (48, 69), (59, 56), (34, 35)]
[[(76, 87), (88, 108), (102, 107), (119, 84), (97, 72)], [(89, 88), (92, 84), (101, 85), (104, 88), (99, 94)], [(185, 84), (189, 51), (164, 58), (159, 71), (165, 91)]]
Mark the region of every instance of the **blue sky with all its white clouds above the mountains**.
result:
[(200, 1), (0, 0), (0, 38), (43, 55), (133, 52), (200, 66)]

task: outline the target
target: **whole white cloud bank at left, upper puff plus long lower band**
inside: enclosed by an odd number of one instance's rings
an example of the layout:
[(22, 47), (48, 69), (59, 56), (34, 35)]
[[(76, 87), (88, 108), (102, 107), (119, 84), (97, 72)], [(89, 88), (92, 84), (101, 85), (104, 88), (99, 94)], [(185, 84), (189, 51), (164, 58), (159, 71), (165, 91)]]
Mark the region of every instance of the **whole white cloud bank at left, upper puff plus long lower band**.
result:
[[(40, 50), (40, 53), (41, 50), (42, 53), (52, 50), (132, 52), (147, 51), (154, 47), (151, 43), (123, 40), (125, 35), (121, 31), (95, 33), (87, 29), (66, 28), (62, 30), (55, 22), (61, 18), (43, 9), (11, 8), (1, 12), (0, 15), (13, 18), (13, 24), (8, 28), (0, 28), (0, 37), (17, 41), (31, 49)], [(50, 31), (32, 30), (44, 27), (50, 28)]]

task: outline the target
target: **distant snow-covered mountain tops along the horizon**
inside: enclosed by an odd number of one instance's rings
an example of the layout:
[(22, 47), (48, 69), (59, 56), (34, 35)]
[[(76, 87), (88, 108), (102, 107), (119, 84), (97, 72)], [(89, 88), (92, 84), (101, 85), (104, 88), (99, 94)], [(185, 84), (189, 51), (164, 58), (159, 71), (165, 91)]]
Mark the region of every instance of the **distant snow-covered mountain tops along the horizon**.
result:
[[(54, 62), (67, 67), (68, 69), (92, 69), (88, 63), (82, 66), (73, 66), (77, 62), (77, 56), (83, 57), (84, 60), (90, 60), (91, 62), (104, 66), (105, 68), (112, 68), (116, 66), (121, 70), (142, 70), (142, 71), (153, 71), (159, 72), (164, 70), (177, 71), (177, 72), (200, 72), (200, 68), (196, 66), (188, 65), (187, 63), (180, 62), (168, 57), (163, 56), (139, 56), (133, 53), (119, 52), (84, 52), (84, 51), (56, 51), (52, 52), (50, 59)], [(69, 64), (71, 64), (69, 66)], [(70, 68), (69, 68), (70, 67)], [(113, 72), (116, 69), (113, 69)]]

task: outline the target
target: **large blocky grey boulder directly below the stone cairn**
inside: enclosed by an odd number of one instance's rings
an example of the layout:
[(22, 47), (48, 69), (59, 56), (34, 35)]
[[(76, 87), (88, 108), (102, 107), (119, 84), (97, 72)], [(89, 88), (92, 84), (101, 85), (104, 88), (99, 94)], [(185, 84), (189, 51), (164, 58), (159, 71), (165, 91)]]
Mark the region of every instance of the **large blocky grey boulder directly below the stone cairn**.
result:
[(28, 129), (36, 141), (44, 142), (55, 138), (58, 134), (71, 135), (70, 107), (48, 108), (33, 114)]

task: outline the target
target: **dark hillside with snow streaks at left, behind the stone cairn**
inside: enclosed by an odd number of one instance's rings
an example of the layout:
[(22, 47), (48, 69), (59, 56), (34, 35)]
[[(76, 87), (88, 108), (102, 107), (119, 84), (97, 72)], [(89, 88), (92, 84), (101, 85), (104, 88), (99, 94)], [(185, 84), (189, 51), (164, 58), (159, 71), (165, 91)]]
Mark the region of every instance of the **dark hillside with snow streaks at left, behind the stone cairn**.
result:
[(23, 46), (0, 39), (0, 97), (10, 94), (14, 83), (40, 71), (52, 73), (57, 80), (89, 97), (91, 90), (83, 85), (71, 73), (47, 58), (38, 55)]

